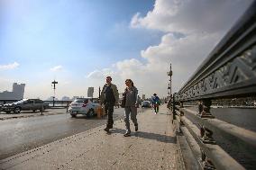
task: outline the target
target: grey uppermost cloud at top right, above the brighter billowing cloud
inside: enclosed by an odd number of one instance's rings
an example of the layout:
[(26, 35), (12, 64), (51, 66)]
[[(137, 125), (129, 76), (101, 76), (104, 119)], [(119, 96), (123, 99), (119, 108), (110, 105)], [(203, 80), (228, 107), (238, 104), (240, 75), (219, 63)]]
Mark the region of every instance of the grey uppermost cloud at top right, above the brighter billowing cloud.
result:
[(140, 13), (133, 15), (131, 26), (186, 34), (226, 31), (251, 2), (252, 0), (156, 0), (154, 9), (145, 17)]

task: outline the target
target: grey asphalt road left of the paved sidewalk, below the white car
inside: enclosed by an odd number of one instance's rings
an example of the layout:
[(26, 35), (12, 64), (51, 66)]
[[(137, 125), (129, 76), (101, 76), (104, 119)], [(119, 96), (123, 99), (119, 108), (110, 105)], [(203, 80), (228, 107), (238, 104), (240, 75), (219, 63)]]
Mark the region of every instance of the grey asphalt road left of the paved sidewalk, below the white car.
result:
[[(138, 112), (140, 111), (141, 109)], [(114, 121), (122, 118), (123, 109), (114, 109)], [(1, 121), (0, 159), (104, 125), (106, 119), (106, 116), (103, 119), (86, 119), (83, 115), (71, 118), (63, 112), (57, 115)]]

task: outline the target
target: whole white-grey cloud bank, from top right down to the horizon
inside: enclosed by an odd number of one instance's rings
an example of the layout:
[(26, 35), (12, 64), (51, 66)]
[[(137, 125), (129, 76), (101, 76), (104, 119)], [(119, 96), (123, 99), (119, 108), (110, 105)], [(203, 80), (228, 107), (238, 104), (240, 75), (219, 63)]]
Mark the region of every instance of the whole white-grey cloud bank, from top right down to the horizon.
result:
[[(163, 31), (165, 35), (159, 44), (142, 49), (141, 58), (124, 59), (111, 67), (92, 71), (84, 79), (78, 79), (75, 85), (59, 84), (57, 94), (86, 95), (88, 86), (103, 86), (105, 76), (112, 76), (120, 92), (124, 80), (131, 78), (140, 95), (166, 96), (169, 63), (173, 71), (172, 90), (177, 92), (250, 3), (249, 0), (156, 0), (152, 11), (145, 16), (134, 13), (131, 27)], [(72, 90), (67, 92), (67, 88)]]

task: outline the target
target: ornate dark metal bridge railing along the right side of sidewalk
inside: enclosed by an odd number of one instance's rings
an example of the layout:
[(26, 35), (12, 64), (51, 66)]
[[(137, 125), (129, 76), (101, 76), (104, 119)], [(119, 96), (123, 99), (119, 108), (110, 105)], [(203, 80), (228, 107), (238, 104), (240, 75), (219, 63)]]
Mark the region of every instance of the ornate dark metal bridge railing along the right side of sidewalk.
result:
[[(217, 120), (211, 114), (213, 101), (255, 96), (256, 1), (197, 68), (186, 85), (173, 94), (172, 114), (178, 146), (187, 142), (195, 157), (194, 162), (191, 162), (191, 158), (187, 160), (186, 157), (191, 157), (187, 156), (187, 149), (180, 149), (185, 169), (245, 169), (215, 141), (223, 135), (256, 160), (256, 133)], [(183, 103), (190, 102), (197, 103), (197, 112), (183, 106)], [(186, 142), (180, 140), (182, 136)]]

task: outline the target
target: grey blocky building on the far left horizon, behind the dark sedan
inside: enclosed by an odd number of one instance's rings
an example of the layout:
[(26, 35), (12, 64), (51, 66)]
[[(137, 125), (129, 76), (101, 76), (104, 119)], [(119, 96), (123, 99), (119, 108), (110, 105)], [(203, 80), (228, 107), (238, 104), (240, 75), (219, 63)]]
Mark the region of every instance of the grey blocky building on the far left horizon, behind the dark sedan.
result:
[(25, 84), (18, 85), (17, 83), (14, 83), (12, 92), (4, 91), (4, 92), (0, 93), (0, 100), (23, 99), (24, 89), (25, 89)]

